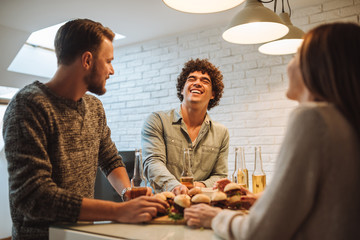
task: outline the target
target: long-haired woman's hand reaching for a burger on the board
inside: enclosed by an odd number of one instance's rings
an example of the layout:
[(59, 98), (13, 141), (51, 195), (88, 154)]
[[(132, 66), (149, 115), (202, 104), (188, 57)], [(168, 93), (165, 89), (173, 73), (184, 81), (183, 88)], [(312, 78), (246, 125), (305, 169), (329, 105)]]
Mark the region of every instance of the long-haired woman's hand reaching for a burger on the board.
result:
[(211, 228), (212, 219), (221, 211), (221, 208), (210, 207), (207, 204), (196, 204), (185, 208), (184, 219), (190, 227)]

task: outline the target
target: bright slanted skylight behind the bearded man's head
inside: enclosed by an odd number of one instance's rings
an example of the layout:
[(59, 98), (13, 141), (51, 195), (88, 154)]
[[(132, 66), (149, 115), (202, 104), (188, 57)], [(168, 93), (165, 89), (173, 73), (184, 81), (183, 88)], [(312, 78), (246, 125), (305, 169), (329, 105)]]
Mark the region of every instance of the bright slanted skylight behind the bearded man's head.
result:
[[(8, 71), (51, 78), (57, 69), (54, 39), (63, 24), (33, 32), (8, 67)], [(125, 36), (115, 33), (114, 41), (123, 38)]]

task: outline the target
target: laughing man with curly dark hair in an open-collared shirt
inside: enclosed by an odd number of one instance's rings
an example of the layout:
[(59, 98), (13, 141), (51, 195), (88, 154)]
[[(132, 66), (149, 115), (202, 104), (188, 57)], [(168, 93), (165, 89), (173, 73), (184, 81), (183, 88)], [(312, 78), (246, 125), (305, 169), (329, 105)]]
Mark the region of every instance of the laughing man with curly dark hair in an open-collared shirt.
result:
[(227, 177), (229, 133), (207, 110), (219, 104), (224, 84), (208, 60), (185, 63), (177, 79), (178, 109), (150, 114), (141, 131), (144, 173), (155, 191), (187, 193), (180, 183), (183, 151), (190, 149), (195, 187), (212, 187)]

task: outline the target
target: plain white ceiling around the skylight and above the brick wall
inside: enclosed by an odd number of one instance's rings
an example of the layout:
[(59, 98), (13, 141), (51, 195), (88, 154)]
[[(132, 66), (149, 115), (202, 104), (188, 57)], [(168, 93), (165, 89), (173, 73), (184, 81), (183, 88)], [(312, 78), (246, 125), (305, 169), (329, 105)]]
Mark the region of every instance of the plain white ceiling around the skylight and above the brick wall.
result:
[[(312, 4), (314, 0), (291, 1), (292, 8)], [(33, 31), (69, 19), (99, 21), (125, 35), (116, 44), (124, 46), (214, 25), (226, 26), (243, 5), (220, 13), (188, 14), (167, 7), (162, 0), (0, 0), (0, 85), (23, 87), (35, 79), (46, 81), (6, 69)], [(273, 3), (266, 6), (272, 8)]]

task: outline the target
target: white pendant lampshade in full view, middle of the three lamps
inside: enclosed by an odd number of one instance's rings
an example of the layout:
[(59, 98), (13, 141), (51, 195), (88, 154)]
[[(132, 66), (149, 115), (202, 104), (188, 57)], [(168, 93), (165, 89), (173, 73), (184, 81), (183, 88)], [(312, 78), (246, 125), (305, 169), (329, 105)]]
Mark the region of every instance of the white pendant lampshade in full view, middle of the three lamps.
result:
[(247, 0), (223, 33), (224, 40), (237, 44), (257, 44), (285, 36), (289, 28), (280, 17), (258, 0)]

